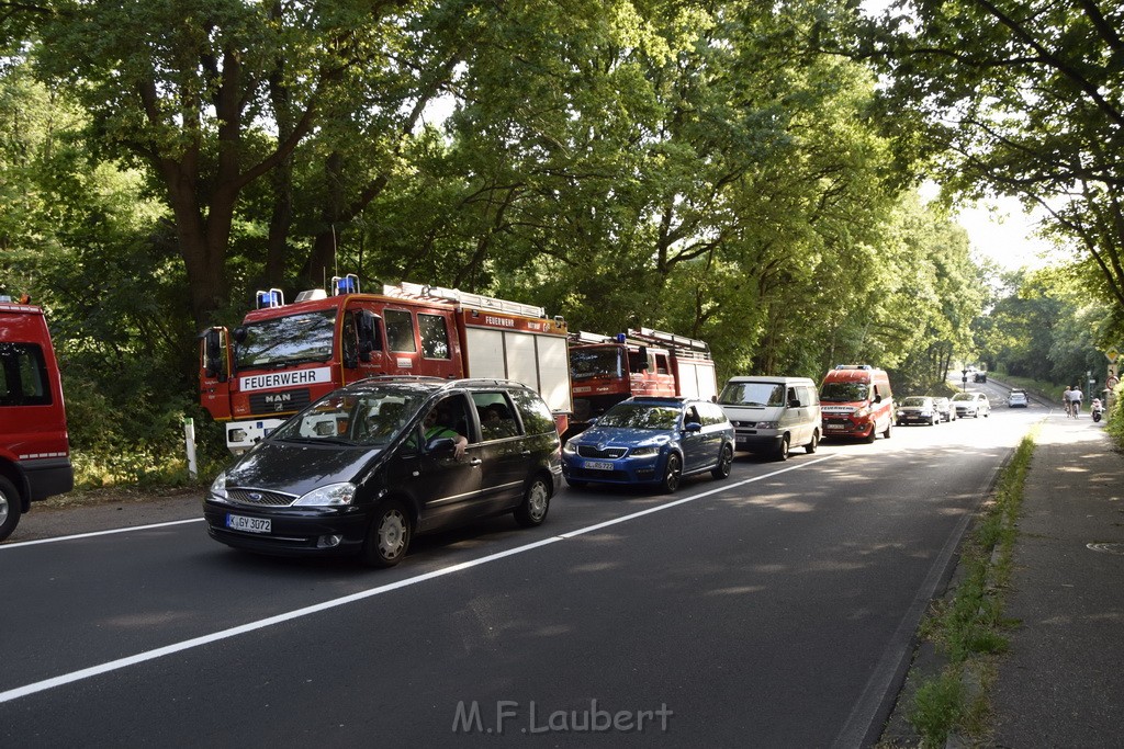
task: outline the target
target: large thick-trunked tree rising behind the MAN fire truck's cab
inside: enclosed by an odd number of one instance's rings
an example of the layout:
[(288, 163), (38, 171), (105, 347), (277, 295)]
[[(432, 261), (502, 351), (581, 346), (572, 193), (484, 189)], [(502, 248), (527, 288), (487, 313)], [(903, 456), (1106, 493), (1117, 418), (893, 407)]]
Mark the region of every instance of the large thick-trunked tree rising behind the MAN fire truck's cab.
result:
[[(6, 30), (33, 29), (12, 38), (34, 42), (40, 77), (67, 86), (89, 112), (98, 156), (143, 165), (160, 185), (197, 328), (228, 303), (229, 247), (247, 186), (282, 168), (266, 264), (275, 274), (298, 146), (316, 128), (345, 129), (354, 140), (380, 117), (395, 119), (388, 112), (400, 99), (371, 100), (379, 73), (404, 70), (413, 80), (420, 70), (402, 48), (413, 30), (402, 0), (47, 0), (8, 10)], [(338, 150), (324, 153), (330, 177)]]

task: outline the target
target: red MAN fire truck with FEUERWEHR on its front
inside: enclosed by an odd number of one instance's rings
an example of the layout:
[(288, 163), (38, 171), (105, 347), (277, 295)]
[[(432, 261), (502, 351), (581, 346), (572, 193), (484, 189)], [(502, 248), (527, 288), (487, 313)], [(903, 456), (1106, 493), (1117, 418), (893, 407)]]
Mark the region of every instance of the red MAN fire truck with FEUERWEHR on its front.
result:
[(559, 431), (571, 413), (568, 330), (541, 307), (455, 289), (402, 283), (360, 293), (355, 275), (332, 294), (257, 292), (233, 331), (201, 336), (201, 403), (242, 453), (288, 415), (336, 387), (377, 375), (496, 377), (542, 394)]

